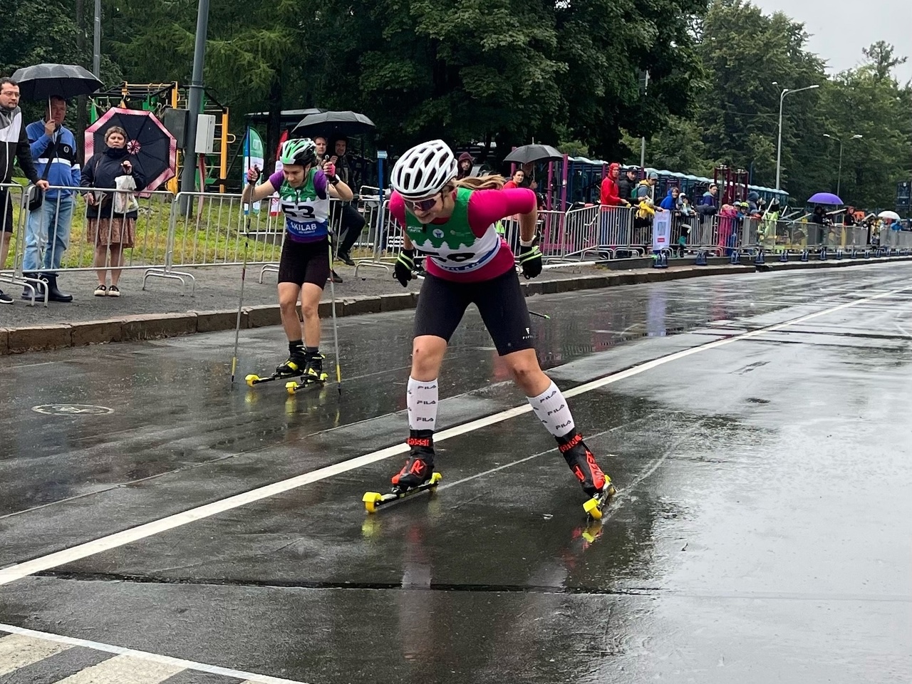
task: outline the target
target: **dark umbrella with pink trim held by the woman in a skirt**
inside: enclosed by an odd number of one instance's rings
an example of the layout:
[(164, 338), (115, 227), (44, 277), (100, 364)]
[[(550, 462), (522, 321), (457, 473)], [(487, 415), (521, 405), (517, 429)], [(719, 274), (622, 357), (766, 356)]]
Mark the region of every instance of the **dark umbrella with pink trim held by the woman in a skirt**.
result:
[(177, 140), (150, 111), (116, 107), (106, 111), (86, 129), (86, 159), (107, 149), (105, 132), (111, 126), (127, 131), (127, 150), (135, 156), (146, 177), (146, 187), (140, 190), (155, 190), (174, 175)]

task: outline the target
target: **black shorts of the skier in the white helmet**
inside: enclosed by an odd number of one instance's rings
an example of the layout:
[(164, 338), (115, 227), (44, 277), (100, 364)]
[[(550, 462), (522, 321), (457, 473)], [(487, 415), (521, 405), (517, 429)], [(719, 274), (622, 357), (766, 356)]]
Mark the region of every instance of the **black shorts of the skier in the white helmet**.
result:
[(470, 304), (478, 306), (500, 356), (534, 348), (529, 309), (513, 269), (481, 283), (427, 275), (415, 311), (415, 337), (433, 335), (449, 342)]

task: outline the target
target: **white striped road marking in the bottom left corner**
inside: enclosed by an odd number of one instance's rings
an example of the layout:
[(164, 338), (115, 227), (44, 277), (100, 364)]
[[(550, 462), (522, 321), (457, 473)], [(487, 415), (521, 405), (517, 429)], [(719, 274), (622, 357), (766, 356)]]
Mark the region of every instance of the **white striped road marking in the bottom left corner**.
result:
[[(231, 668), (219, 668), (215, 665), (206, 665), (205, 663), (198, 663), (192, 660), (171, 658), (171, 656), (160, 656), (157, 653), (147, 653), (146, 651), (137, 651), (133, 650), (132, 648), (120, 648), (119, 646), (102, 644), (98, 641), (88, 641), (87, 639), (61, 637), (57, 634), (38, 632), (34, 629), (25, 629), (24, 627), (13, 627), (12, 625), (0, 624), (0, 632), (9, 632), (13, 635), (13, 637), (5, 637), (3, 639), (0, 639), (0, 644), (4, 643), (8, 638), (27, 638), (29, 640), (39, 640), (52, 646), (57, 646), (57, 649), (61, 651), (65, 650), (66, 648), (78, 646), (82, 648), (91, 648), (96, 651), (102, 651), (103, 653), (113, 653), (121, 657), (110, 658), (109, 660), (105, 660), (104, 662), (99, 663), (92, 668), (86, 668), (82, 670), (82, 672), (79, 672), (72, 677), (63, 679), (62, 681), (67, 682), (67, 684), (86, 684), (87, 682), (98, 682), (98, 684), (102, 682), (110, 682), (110, 684), (127, 684), (128, 682), (132, 683), (134, 681), (140, 684), (152, 684), (153, 682), (159, 682), (164, 679), (168, 679), (168, 677), (172, 677), (174, 674), (180, 672), (183, 669), (193, 669), (199, 672), (209, 672), (213, 675), (222, 675), (223, 677), (231, 677), (233, 679), (244, 679), (247, 682), (251, 682), (252, 684), (305, 684), (305, 682), (297, 681), (295, 679), (267, 677), (266, 675), (258, 675), (254, 672), (244, 672), (243, 670)], [(61, 646), (62, 648), (59, 648)], [(0, 650), (0, 656), (2, 656), (2, 654), (3, 651)], [(48, 653), (48, 655), (53, 654)], [(147, 666), (146, 668), (137, 667), (137, 664), (135, 662), (137, 660), (142, 661), (143, 663), (154, 664), (157, 667), (151, 667), (151, 665)], [(132, 661), (132, 663), (129, 661)], [(2, 672), (3, 664), (4, 661), (0, 659), (0, 672)], [(109, 665), (107, 665), (106, 668), (103, 667), (106, 666), (106, 664)], [(169, 674), (165, 677), (161, 677), (161, 673), (164, 673), (166, 670), (169, 672)], [(94, 673), (96, 677), (89, 677), (89, 679), (76, 679), (79, 678), (83, 673)], [(140, 679), (131, 679), (131, 677), (135, 675), (143, 675), (143, 677)]]

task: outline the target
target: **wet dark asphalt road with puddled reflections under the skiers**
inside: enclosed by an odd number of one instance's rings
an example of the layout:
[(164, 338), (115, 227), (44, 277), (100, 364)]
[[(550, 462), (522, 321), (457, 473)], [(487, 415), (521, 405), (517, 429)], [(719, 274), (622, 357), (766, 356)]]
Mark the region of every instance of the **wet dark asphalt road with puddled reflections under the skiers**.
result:
[[(439, 442), (435, 496), (366, 516), (393, 455), (63, 557), (0, 586), (0, 684), (908, 682), (910, 276), (530, 298), (552, 316), (533, 320), (543, 365), (579, 392), (575, 422), (620, 490), (601, 525), (530, 414), (503, 416), (523, 398), (472, 314), (439, 424), (497, 421)], [(229, 389), (233, 333), (3, 358), (0, 568), (399, 443), (411, 320), (339, 321), (341, 397)], [(242, 377), (284, 358), (279, 328), (242, 343)], [(32, 410), (52, 404), (112, 412)], [(4, 626), (98, 644), (44, 655), (45, 637)], [(140, 658), (104, 679), (124, 657), (103, 645), (240, 672)], [(37, 655), (13, 669), (16, 652)]]

